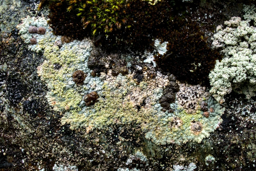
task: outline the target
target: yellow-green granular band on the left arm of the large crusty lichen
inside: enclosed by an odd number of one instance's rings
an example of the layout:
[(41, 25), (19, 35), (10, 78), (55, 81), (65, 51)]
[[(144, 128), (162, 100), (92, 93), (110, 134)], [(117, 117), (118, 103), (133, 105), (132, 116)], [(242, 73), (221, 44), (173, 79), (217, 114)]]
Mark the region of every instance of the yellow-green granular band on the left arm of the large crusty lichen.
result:
[[(58, 46), (54, 46), (51, 43), (51, 39), (42, 39), (40, 43), (44, 45), (44, 56), (46, 61), (42, 64), (42, 70), (47, 71), (44, 74), (44, 79), (52, 80), (53, 84), (50, 84), (51, 91), (56, 94), (62, 101), (57, 101), (56, 105), (60, 108), (69, 109), (71, 106), (73, 108), (78, 108), (78, 104), (82, 100), (82, 96), (73, 89), (65, 90), (66, 83), (65, 74), (73, 73), (75, 71), (74, 67), (69, 67), (69, 64), (73, 65), (80, 62), (77, 58), (78, 55), (71, 48), (66, 47), (64, 50), (60, 50)], [(54, 69), (54, 64), (61, 65), (59, 70)], [(49, 87), (48, 87), (49, 88)]]

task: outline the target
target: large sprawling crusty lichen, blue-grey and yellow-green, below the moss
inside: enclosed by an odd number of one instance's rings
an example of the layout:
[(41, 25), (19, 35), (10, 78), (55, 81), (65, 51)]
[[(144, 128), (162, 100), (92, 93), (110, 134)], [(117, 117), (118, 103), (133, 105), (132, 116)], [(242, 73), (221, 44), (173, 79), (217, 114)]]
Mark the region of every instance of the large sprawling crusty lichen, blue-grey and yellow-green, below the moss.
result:
[[(20, 25), (19, 29), (34, 26), (33, 21), (46, 24), (46, 20), (39, 19), (27, 17), (23, 23), (30, 24)], [(179, 92), (167, 111), (161, 107), (159, 99), (169, 84), (176, 84), (174, 76), (163, 75), (155, 71), (154, 65), (144, 63), (144, 66), (136, 65), (141, 75), (128, 66), (125, 75), (113, 76), (112, 69), (108, 69), (106, 73), (93, 77), (87, 66), (93, 47), (91, 40), (59, 44), (56, 42), (60, 42), (61, 37), (54, 36), (50, 29), (46, 29), (42, 36), (35, 46), (44, 49), (46, 60), (37, 67), (37, 73), (48, 87), (46, 98), (49, 105), (55, 111), (64, 112), (61, 123), (70, 124), (71, 129), (85, 128), (86, 133), (90, 133), (95, 128), (108, 129), (113, 124), (137, 123), (147, 139), (156, 145), (166, 145), (188, 141), (201, 143), (222, 122), (225, 108), (214, 101), (204, 87), (177, 81)], [(152, 54), (144, 54), (147, 55)], [(83, 75), (83, 82), (79, 77), (79, 84), (74, 82), (76, 71)], [(169, 87), (168, 91), (172, 88)], [(97, 98), (89, 104), (86, 99), (90, 93), (96, 94)], [(204, 104), (203, 109), (201, 104)], [(207, 117), (203, 115), (206, 111)]]

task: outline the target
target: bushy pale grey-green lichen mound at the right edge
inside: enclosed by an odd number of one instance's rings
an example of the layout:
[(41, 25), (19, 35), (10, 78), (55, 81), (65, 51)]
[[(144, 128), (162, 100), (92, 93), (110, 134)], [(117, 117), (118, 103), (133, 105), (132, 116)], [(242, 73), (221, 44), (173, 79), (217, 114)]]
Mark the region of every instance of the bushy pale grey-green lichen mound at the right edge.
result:
[(221, 48), (224, 58), (216, 61), (209, 75), (210, 93), (220, 103), (232, 90), (248, 99), (256, 91), (256, 28), (240, 17), (232, 17), (224, 24), (227, 27), (218, 26), (212, 38), (213, 48)]

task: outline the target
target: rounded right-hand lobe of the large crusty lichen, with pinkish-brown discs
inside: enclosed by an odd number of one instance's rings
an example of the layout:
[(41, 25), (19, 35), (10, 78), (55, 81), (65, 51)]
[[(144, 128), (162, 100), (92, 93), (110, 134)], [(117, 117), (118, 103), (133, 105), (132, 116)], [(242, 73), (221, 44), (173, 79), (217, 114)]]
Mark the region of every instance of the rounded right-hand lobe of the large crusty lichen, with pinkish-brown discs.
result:
[[(179, 82), (178, 82), (179, 83)], [(180, 90), (176, 94), (175, 103), (171, 104), (172, 112), (159, 113), (158, 122), (151, 123), (151, 128), (146, 133), (146, 138), (157, 145), (182, 144), (188, 141), (201, 143), (204, 138), (208, 138), (211, 132), (219, 128), (222, 119), (221, 115), (225, 108), (222, 108), (210, 95), (199, 85), (180, 84)], [(184, 90), (194, 90), (195, 87), (203, 93), (198, 96), (190, 94), (191, 97), (184, 95)], [(199, 87), (199, 88), (198, 88)], [(194, 111), (187, 109), (190, 100)], [(181, 103), (180, 103), (181, 102)], [(188, 102), (188, 103), (186, 103)], [(209, 117), (203, 116), (204, 111), (200, 108), (202, 103), (207, 104)], [(213, 108), (214, 110), (211, 110)], [(189, 112), (189, 113), (188, 113)]]

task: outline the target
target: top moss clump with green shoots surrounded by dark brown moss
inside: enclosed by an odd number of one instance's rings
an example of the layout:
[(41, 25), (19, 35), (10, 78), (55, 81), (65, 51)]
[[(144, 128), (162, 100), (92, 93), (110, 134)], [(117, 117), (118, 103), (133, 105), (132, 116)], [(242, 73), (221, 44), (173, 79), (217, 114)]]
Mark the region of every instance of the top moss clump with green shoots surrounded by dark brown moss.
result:
[(107, 48), (115, 44), (135, 49), (149, 47), (152, 37), (169, 25), (171, 16), (166, 0), (155, 5), (141, 0), (51, 1), (48, 23), (54, 34), (71, 38), (98, 35), (97, 43)]

